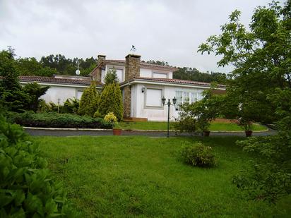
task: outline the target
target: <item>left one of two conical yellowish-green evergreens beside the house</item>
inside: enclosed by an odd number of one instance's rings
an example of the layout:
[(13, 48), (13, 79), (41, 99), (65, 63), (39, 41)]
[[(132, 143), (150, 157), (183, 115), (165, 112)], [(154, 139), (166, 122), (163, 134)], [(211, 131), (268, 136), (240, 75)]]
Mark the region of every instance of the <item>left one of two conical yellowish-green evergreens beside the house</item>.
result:
[(85, 88), (78, 109), (78, 114), (94, 116), (97, 111), (99, 94), (96, 91), (96, 83), (93, 81), (90, 87)]

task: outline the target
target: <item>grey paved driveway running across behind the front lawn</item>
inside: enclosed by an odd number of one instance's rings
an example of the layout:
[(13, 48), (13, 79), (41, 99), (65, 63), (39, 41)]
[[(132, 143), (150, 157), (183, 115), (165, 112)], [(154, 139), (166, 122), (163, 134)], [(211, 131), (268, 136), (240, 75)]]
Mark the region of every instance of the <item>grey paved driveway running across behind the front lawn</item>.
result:
[[(113, 135), (112, 131), (90, 131), (90, 130), (62, 130), (62, 129), (31, 129), (25, 128), (25, 132), (30, 135), (51, 135), (51, 136), (73, 136), (73, 135), (93, 135), (93, 136), (101, 136), (101, 135)], [(273, 130), (269, 130), (266, 132), (256, 132), (253, 133), (254, 136), (264, 136), (264, 135), (275, 135), (277, 132)], [(122, 131), (121, 135), (144, 135), (150, 137), (166, 137), (167, 131)], [(177, 135), (189, 136), (188, 133), (176, 134), (175, 132), (170, 132), (170, 136), (174, 137)], [(199, 135), (199, 134), (198, 134)], [(244, 132), (211, 132), (211, 135), (218, 136), (245, 136)]]

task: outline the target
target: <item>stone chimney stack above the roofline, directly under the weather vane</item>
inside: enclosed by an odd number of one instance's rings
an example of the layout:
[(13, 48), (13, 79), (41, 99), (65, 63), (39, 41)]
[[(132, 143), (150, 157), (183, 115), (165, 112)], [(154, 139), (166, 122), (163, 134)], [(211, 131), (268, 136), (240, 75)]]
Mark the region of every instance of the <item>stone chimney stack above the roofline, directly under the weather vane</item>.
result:
[(128, 54), (125, 57), (125, 80), (131, 80), (138, 77), (141, 72), (141, 56), (137, 54)]

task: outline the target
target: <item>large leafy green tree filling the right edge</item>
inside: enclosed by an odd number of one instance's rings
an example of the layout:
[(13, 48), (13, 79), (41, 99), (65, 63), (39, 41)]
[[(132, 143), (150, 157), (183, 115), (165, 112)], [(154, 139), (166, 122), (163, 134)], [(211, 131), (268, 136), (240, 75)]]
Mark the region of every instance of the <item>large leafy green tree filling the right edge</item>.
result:
[(227, 100), (241, 107), (242, 119), (279, 124), (278, 135), (238, 142), (256, 158), (253, 169), (234, 177), (249, 199), (275, 202), (291, 193), (291, 1), (256, 8), (249, 30), (239, 16), (234, 11), (222, 34), (210, 36), (198, 52), (214, 52), (222, 56), (218, 66), (235, 67)]

